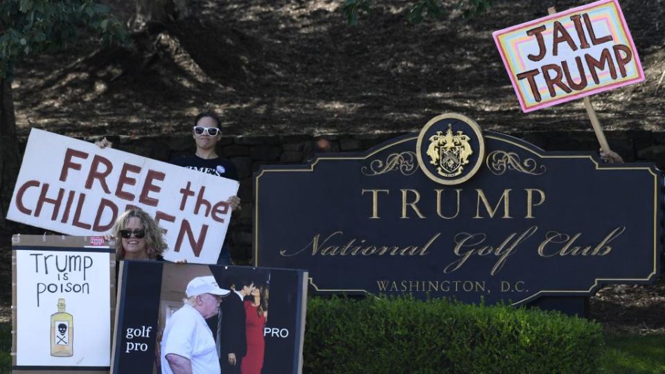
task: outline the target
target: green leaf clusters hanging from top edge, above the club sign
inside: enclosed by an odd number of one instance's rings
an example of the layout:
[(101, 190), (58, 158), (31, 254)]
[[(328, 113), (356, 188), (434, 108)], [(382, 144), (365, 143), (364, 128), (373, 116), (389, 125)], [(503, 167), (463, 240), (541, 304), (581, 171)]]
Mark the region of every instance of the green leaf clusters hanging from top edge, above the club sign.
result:
[[(371, 0), (344, 0), (342, 11), (346, 22), (350, 25), (357, 24), (358, 16), (371, 11)], [(455, 8), (461, 10), (464, 18), (481, 15), (490, 8), (490, 0), (457, 0)], [(409, 22), (420, 24), (425, 17), (442, 19), (445, 15), (443, 0), (417, 0), (409, 10)]]

